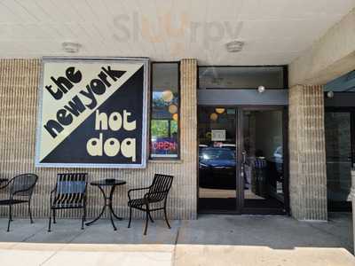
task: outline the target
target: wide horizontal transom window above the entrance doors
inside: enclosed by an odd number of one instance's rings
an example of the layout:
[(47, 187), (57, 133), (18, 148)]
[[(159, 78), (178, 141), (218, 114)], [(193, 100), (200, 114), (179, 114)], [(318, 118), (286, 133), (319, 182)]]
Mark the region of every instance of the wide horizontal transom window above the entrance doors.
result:
[(285, 66), (200, 66), (199, 89), (286, 89)]

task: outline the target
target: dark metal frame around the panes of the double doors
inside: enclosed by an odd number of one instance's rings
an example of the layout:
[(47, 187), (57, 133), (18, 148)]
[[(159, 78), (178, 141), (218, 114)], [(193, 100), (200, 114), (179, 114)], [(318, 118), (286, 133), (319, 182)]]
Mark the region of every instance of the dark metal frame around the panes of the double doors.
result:
[[(267, 106), (267, 105), (198, 105), (197, 106), (197, 116), (199, 116), (199, 107), (225, 107), (235, 109), (235, 134), (236, 134), (236, 150), (237, 150), (237, 166), (235, 176), (237, 178), (236, 184), (236, 209), (235, 210), (210, 210), (208, 212), (200, 211), (199, 203), (199, 137), (197, 136), (197, 213), (209, 213), (209, 214), (230, 214), (230, 215), (290, 215), (289, 211), (289, 159), (288, 159), (288, 106)], [(244, 207), (244, 178), (241, 178), (241, 161), (243, 148), (243, 112), (246, 110), (259, 111), (259, 110), (280, 110), (282, 111), (282, 144), (283, 144), (283, 160), (284, 160), (284, 209), (272, 208), (272, 207)], [(198, 122), (198, 121), (197, 121)], [(197, 124), (198, 126), (198, 124)]]

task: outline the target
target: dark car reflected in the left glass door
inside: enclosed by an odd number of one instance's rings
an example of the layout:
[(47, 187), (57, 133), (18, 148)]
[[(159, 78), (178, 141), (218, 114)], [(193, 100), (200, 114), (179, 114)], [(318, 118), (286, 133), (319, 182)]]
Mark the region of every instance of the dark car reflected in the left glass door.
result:
[(200, 186), (235, 189), (235, 150), (230, 147), (201, 147), (199, 154)]

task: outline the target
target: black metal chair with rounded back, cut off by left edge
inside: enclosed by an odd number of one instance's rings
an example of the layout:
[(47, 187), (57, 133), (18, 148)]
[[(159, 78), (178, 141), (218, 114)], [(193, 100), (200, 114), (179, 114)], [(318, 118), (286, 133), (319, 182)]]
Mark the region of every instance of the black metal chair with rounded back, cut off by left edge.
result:
[(33, 222), (31, 213), (31, 199), (35, 189), (38, 176), (35, 174), (22, 174), (10, 179), (6, 184), (0, 186), (0, 189), (8, 188), (9, 197), (0, 200), (0, 206), (9, 207), (9, 223), (7, 231), (10, 231), (10, 223), (12, 222), (12, 206), (15, 204), (28, 203), (28, 215), (31, 223)]

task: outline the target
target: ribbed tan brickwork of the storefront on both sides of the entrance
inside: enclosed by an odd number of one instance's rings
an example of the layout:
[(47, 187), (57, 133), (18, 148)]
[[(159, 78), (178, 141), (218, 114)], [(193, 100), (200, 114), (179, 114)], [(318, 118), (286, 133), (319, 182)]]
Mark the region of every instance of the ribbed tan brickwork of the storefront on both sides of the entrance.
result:
[[(48, 197), (59, 172), (88, 172), (90, 180), (116, 177), (128, 182), (114, 197), (118, 214), (128, 215), (127, 191), (150, 184), (154, 173), (175, 176), (168, 209), (170, 218), (195, 219), (199, 200), (198, 69), (196, 59), (182, 59), (180, 78), (180, 153), (177, 160), (151, 158), (143, 169), (36, 168), (36, 119), (40, 59), (1, 60), (0, 108), (3, 130), (1, 168), (4, 177), (33, 172), (40, 178), (33, 200), (36, 217), (48, 215)], [(150, 90), (150, 93), (152, 91)], [(248, 102), (247, 102), (248, 105)], [(270, 106), (270, 105), (269, 105)], [(327, 174), (324, 137), (324, 93), (321, 86), (288, 89), (289, 211), (301, 220), (327, 220)], [(285, 168), (286, 171), (287, 168)], [(88, 215), (99, 212), (99, 190), (89, 188)], [(288, 204), (288, 203), (287, 203)], [(284, 207), (288, 208), (288, 207)], [(26, 215), (26, 208), (16, 208)], [(63, 215), (75, 216), (74, 213)], [(141, 214), (135, 214), (139, 216)]]

